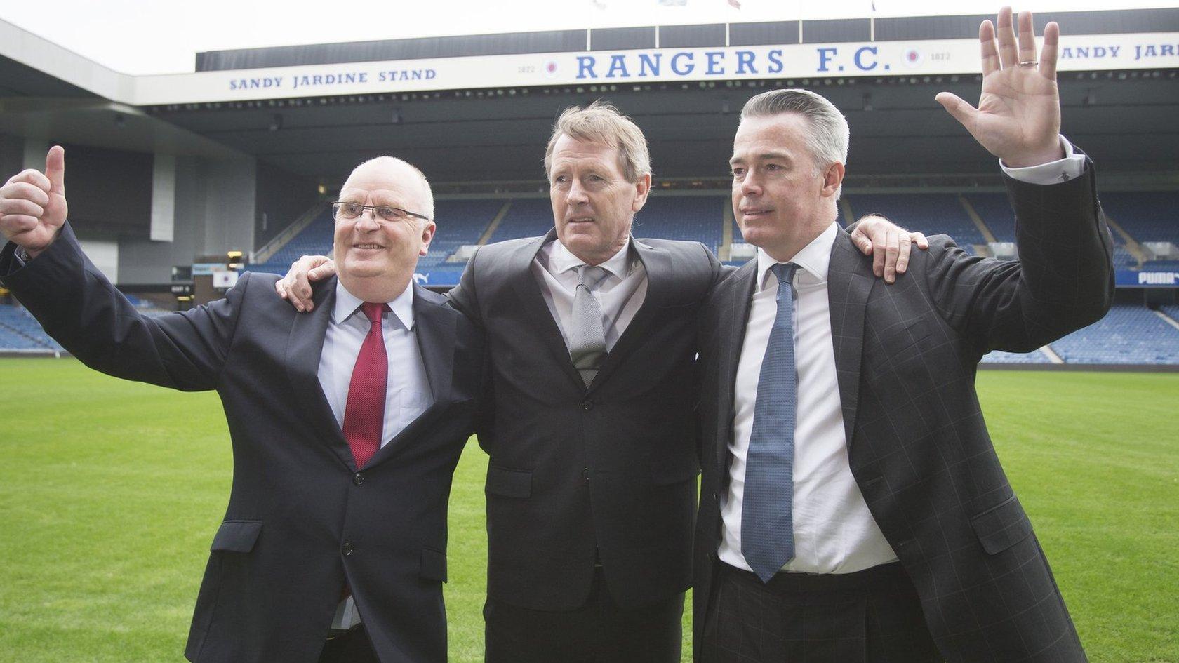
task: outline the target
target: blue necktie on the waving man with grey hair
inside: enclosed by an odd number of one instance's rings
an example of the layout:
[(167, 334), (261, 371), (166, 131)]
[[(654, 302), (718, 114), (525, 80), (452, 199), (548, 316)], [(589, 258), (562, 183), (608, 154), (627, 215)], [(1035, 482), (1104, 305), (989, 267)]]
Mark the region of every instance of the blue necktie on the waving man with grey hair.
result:
[(753, 405), (753, 429), (745, 459), (740, 551), (750, 569), (770, 582), (795, 557), (793, 468), (795, 408), (795, 264), (776, 264), (778, 313), (762, 360)]

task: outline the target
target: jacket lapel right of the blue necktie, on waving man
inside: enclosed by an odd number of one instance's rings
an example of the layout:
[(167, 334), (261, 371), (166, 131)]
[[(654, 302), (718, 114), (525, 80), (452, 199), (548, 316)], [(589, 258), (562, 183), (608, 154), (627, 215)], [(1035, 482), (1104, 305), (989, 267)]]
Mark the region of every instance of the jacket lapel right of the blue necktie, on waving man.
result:
[(835, 373), (843, 406), (843, 428), (851, 447), (859, 405), (859, 360), (864, 354), (864, 309), (876, 277), (871, 267), (839, 229), (831, 247), (826, 296), (831, 309), (831, 341), (835, 346)]

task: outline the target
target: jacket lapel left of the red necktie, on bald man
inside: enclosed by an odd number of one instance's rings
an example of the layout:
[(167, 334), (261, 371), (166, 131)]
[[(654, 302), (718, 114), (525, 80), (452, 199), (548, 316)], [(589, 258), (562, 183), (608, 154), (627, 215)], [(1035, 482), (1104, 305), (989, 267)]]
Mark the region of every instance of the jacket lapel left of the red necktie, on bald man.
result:
[(327, 441), (340, 461), (355, 471), (353, 452), (348, 448), (348, 441), (336, 424), (336, 415), (331, 413), (328, 399), (320, 386), (320, 355), (331, 320), (331, 309), (336, 302), (336, 278), (324, 281), (312, 294), (311, 301), (315, 302), (311, 313), (296, 313), (291, 322), (291, 333), (286, 340), (286, 376), (298, 400), (298, 411), (307, 413), (320, 436)]

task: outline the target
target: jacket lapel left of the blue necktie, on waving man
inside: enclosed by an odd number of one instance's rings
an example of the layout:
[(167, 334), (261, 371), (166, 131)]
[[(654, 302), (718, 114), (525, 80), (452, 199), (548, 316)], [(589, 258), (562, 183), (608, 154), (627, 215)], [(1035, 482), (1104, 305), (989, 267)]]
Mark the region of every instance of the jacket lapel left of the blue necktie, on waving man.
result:
[(749, 308), (753, 298), (753, 285), (757, 281), (757, 258), (743, 264), (732, 276), (725, 280), (724, 301), (720, 323), (717, 333), (722, 334), (720, 356), (717, 379), (717, 464), (724, 467), (725, 454), (729, 453), (729, 438), (733, 428), (733, 395), (737, 386), (737, 365), (740, 361), (740, 348), (745, 343), (745, 327), (749, 322)]

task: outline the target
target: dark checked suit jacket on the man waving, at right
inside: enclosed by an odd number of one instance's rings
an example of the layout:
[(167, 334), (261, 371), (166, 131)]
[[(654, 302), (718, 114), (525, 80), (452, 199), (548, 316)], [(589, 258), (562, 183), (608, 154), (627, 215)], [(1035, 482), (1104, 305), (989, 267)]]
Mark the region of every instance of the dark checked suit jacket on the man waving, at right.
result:
[[(990, 349), (1030, 352), (1105, 315), (1109, 231), (1092, 168), (1036, 186), (1008, 179), (1020, 262), (971, 257), (944, 236), (893, 285), (839, 232), (828, 295), (851, 473), (921, 596), (947, 661), (1084, 661), (1040, 544), (995, 455), (974, 390)], [(733, 385), (756, 261), (702, 311), (702, 465), (696, 615), (704, 615), (727, 490)], [(805, 445), (805, 440), (799, 440)], [(703, 619), (696, 621), (699, 643)]]

